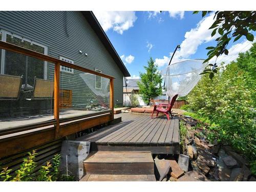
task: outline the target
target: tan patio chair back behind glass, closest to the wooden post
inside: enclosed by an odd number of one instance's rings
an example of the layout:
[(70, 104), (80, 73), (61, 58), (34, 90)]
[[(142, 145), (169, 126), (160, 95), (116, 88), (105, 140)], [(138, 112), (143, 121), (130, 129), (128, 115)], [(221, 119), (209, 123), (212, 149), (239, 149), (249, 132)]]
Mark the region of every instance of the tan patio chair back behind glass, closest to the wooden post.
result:
[(34, 99), (52, 99), (54, 91), (54, 81), (46, 79), (37, 79), (35, 77), (32, 98)]

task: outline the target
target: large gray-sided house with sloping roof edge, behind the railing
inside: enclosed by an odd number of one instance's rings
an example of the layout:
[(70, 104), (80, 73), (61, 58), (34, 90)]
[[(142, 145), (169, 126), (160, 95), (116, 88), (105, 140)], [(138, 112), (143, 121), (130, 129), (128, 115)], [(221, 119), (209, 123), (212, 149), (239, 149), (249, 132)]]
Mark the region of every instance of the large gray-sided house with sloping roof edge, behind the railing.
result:
[[(0, 11), (0, 18), (0, 40), (113, 76), (114, 105), (123, 104), (122, 81), (130, 74), (91, 11)], [(35, 76), (54, 78), (46, 61), (0, 50), (0, 63), (1, 74), (23, 75), (24, 89)], [(72, 94), (72, 106), (109, 100), (109, 79), (100, 76), (61, 66), (60, 85)]]

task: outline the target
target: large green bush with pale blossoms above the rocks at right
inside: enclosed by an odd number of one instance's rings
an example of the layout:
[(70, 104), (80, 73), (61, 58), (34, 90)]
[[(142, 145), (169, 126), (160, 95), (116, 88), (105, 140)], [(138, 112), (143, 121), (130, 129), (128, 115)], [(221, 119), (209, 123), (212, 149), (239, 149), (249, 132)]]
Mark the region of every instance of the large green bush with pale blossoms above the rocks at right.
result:
[(221, 66), (212, 80), (203, 75), (187, 96), (186, 106), (196, 119), (210, 124), (209, 138), (229, 142), (249, 160), (256, 159), (255, 47), (240, 53), (237, 62)]

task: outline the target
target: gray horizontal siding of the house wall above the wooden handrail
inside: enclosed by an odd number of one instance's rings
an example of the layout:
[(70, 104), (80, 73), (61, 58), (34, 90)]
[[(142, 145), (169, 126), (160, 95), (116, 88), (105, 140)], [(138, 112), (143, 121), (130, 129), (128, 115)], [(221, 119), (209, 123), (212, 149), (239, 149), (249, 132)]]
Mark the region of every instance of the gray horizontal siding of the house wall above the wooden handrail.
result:
[[(0, 11), (0, 29), (47, 46), (50, 56), (61, 55), (74, 60), (75, 65), (91, 70), (97, 68), (115, 77), (115, 104), (122, 105), (123, 74), (81, 12)], [(79, 50), (88, 53), (88, 57), (80, 55)], [(48, 76), (52, 73), (50, 66)]]

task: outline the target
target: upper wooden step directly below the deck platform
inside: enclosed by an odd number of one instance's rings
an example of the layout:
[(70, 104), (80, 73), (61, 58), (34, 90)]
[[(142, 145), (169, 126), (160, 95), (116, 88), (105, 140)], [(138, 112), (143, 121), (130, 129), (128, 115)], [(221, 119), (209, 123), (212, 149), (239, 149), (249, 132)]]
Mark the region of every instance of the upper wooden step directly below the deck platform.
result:
[(150, 152), (92, 152), (83, 167), (87, 175), (154, 175)]

